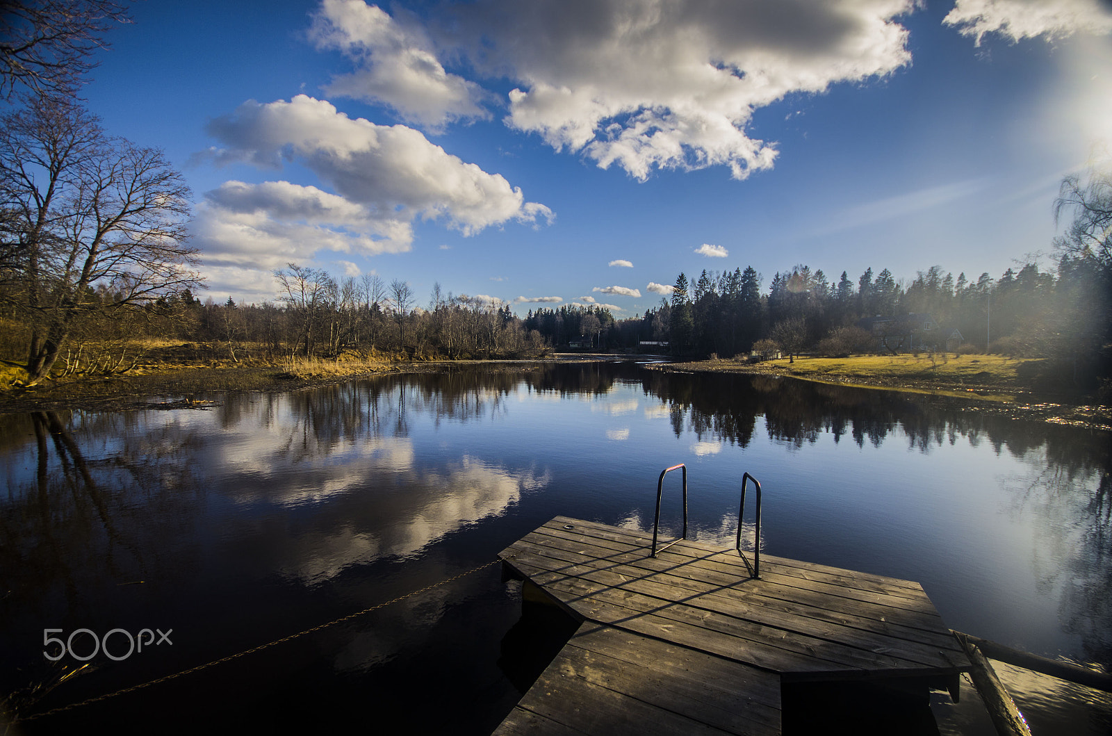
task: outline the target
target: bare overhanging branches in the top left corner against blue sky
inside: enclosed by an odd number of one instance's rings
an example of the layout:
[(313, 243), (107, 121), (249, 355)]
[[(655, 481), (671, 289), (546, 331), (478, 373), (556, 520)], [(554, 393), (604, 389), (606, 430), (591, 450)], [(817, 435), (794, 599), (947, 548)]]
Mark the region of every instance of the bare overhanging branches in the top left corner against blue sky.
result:
[(0, 0), (0, 97), (17, 86), (37, 93), (72, 93), (96, 67), (115, 23), (129, 23), (113, 0)]

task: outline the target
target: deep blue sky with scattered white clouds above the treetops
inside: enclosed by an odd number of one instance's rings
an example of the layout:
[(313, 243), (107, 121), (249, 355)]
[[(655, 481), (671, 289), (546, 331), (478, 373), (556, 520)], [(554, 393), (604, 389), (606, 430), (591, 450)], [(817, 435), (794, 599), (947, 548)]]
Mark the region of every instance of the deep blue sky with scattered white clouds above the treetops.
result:
[(132, 14), (83, 96), (185, 172), (217, 301), (272, 299), (290, 261), (618, 318), (704, 268), (999, 277), (1112, 138), (1098, 0)]

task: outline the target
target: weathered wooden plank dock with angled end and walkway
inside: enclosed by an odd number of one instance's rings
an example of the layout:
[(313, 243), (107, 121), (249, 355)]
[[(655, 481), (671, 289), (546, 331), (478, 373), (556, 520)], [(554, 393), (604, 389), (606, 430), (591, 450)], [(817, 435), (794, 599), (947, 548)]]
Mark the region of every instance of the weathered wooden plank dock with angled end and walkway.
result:
[(781, 733), (781, 686), (949, 689), (972, 668), (909, 580), (556, 517), (499, 557), (582, 621), (495, 734)]

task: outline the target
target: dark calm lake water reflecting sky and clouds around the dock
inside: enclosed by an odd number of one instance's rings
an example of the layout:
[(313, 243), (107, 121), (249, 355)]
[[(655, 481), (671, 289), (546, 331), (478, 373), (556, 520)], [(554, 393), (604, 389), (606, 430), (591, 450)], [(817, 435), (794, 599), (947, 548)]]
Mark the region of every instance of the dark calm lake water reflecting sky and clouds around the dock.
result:
[[(689, 536), (732, 544), (748, 471), (764, 490), (764, 551), (917, 580), (952, 628), (1112, 665), (1103, 432), (953, 399), (633, 362), (193, 398), (217, 405), (0, 421), (10, 705), (58, 707), (375, 606), (495, 559), (556, 515), (652, 529), (657, 476), (676, 463), (688, 467)], [(489, 733), (528, 682), (515, 654), (518, 593), (492, 566), (14, 733)], [(113, 629), (123, 630), (106, 638)], [(125, 657), (142, 629), (172, 633), (140, 636), (146, 648)], [(44, 636), (73, 652), (51, 663), (43, 652), (60, 645)], [(101, 650), (43, 694), (99, 640), (115, 659)], [(1069, 717), (1108, 730), (1105, 696), (1053, 687), (1017, 695), (1029, 719), (1063, 717), (1052, 705), (1073, 698), (1092, 707)], [(983, 728), (937, 713), (944, 733)]]

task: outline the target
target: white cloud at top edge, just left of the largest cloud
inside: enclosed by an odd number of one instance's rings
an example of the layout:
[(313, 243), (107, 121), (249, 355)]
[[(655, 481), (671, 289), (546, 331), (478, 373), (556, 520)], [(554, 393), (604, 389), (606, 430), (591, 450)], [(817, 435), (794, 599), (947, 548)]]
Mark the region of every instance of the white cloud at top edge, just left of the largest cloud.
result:
[(318, 49), (335, 49), (356, 70), (332, 78), (329, 95), (389, 105), (408, 122), (439, 129), (460, 118), (489, 118), (480, 107), (488, 92), (448, 73), (425, 31), (403, 26), (363, 0), (324, 0), (309, 38)]

